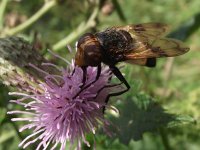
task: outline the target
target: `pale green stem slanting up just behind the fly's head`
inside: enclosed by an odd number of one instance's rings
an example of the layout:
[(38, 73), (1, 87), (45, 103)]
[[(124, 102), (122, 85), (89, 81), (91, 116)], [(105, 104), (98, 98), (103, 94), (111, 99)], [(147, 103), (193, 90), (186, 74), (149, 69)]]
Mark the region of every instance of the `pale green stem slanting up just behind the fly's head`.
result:
[(55, 51), (60, 50), (61, 48), (65, 47), (67, 44), (71, 43), (73, 40), (75, 40), (77, 37), (79, 37), (81, 34), (83, 34), (85, 31), (90, 29), (91, 27), (95, 26), (95, 18), (98, 14), (99, 8), (98, 6), (95, 7), (92, 15), (88, 19), (88, 21), (85, 23), (83, 21), (74, 31), (72, 31), (67, 37), (62, 39), (61, 41), (57, 42), (52, 46), (52, 49)]

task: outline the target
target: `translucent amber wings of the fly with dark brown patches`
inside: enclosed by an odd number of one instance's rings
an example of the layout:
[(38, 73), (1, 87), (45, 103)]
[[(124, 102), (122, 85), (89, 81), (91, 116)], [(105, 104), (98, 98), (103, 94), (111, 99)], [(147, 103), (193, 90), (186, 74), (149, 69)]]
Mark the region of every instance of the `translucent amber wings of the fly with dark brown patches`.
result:
[[(145, 60), (147, 58), (173, 57), (186, 53), (189, 48), (183, 42), (171, 38), (164, 38), (167, 25), (161, 23), (145, 23), (113, 27), (112, 29), (128, 32), (133, 38), (130, 50), (126, 51), (125, 59)], [(138, 60), (138, 61), (139, 61)], [(135, 61), (136, 64), (138, 64)], [(146, 60), (147, 61), (147, 60)], [(142, 63), (141, 63), (142, 65)]]

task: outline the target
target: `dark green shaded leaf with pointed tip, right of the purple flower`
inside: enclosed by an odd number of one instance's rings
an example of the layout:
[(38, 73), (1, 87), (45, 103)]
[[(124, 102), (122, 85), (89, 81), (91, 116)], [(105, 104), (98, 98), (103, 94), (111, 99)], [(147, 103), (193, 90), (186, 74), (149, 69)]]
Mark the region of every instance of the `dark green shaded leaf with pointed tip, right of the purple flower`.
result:
[(123, 101), (119, 118), (112, 118), (117, 125), (116, 137), (128, 144), (131, 139), (141, 140), (146, 132), (155, 132), (159, 128), (174, 127), (194, 123), (189, 116), (167, 113), (154, 99), (143, 93)]

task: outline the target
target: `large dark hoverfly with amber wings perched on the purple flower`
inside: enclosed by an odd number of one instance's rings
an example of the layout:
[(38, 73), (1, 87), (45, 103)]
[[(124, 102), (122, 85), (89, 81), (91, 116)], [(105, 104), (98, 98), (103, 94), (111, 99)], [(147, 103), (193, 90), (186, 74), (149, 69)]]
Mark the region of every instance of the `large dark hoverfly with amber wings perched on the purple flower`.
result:
[(114, 26), (95, 34), (86, 33), (76, 43), (75, 64), (83, 68), (84, 80), (87, 66), (98, 67), (97, 80), (101, 63), (108, 65), (113, 74), (126, 85), (125, 90), (113, 94), (120, 95), (128, 91), (130, 85), (115, 66), (118, 62), (155, 67), (158, 57), (173, 57), (189, 51), (183, 42), (164, 37), (167, 28), (162, 23), (144, 23)]

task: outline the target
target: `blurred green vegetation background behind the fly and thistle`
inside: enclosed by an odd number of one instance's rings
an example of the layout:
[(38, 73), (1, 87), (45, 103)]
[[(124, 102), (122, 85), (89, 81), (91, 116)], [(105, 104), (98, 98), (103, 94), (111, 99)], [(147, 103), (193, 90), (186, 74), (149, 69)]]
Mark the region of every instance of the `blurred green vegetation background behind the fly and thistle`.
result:
[[(159, 59), (153, 69), (125, 65), (122, 71), (132, 88), (110, 100), (120, 115), (106, 113), (120, 130), (112, 138), (100, 131), (95, 137), (96, 149), (199, 150), (200, 1), (101, 0), (98, 5), (95, 2), (46, 0), (45, 5), (45, 0), (1, 0), (0, 36), (23, 37), (46, 58), (51, 57), (46, 51), (50, 48), (71, 59), (74, 54), (68, 54), (66, 45), (74, 48), (85, 32), (145, 22), (168, 24), (169, 36), (183, 40), (190, 51), (174, 59)], [(35, 20), (30, 20), (34, 14)], [(11, 122), (6, 115), (8, 109), (15, 107), (9, 104), (8, 91), (9, 87), (0, 85), (0, 150), (20, 149), (17, 145), (28, 135), (17, 132), (23, 123)], [(90, 136), (88, 139), (92, 143)]]

